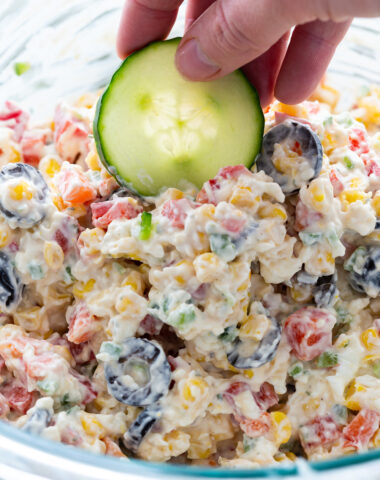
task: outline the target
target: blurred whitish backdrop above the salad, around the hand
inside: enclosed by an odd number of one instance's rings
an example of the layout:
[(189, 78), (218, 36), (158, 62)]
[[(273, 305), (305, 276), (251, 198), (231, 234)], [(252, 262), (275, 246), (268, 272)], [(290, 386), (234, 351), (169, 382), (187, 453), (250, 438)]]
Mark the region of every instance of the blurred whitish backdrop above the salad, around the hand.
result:
[[(57, 100), (106, 85), (120, 63), (114, 48), (122, 0), (1, 0), (0, 101), (44, 114)], [(184, 6), (173, 36), (181, 35)], [(24, 71), (17, 74), (17, 66)], [(20, 71), (18, 72), (20, 73)], [(330, 67), (349, 91), (380, 83), (380, 19), (356, 20)]]

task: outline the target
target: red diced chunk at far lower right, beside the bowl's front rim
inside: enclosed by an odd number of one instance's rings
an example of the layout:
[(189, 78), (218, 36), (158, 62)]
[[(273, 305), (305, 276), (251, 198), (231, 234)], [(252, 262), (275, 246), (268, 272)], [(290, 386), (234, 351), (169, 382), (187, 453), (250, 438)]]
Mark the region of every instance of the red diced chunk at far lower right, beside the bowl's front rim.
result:
[(368, 447), (368, 443), (379, 428), (380, 415), (369, 409), (360, 410), (352, 422), (343, 429), (344, 446), (356, 450)]

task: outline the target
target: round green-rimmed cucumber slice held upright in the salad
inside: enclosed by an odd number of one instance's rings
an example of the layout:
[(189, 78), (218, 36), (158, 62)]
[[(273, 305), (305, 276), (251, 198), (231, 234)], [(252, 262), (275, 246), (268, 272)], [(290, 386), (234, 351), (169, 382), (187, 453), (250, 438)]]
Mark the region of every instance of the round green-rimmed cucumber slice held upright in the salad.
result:
[(186, 81), (174, 64), (180, 40), (128, 57), (97, 105), (99, 155), (119, 183), (142, 195), (189, 182), (200, 188), (221, 167), (250, 167), (261, 148), (264, 117), (244, 74)]

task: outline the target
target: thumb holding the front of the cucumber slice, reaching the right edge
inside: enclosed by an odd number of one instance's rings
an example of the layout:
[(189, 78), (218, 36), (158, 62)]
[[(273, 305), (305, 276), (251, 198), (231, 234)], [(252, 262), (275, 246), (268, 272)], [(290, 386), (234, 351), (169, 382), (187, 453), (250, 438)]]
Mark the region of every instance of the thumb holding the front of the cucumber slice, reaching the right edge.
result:
[(377, 14), (379, 0), (216, 0), (186, 32), (176, 64), (190, 80), (211, 80), (262, 55), (294, 25)]

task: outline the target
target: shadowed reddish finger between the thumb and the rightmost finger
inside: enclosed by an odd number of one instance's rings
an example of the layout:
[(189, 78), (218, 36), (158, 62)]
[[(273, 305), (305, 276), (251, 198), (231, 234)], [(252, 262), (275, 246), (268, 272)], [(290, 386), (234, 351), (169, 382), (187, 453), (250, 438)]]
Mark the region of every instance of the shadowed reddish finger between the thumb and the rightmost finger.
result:
[(290, 32), (283, 35), (269, 50), (243, 67), (248, 80), (255, 86), (261, 106), (272, 103), (274, 87), (285, 57)]

